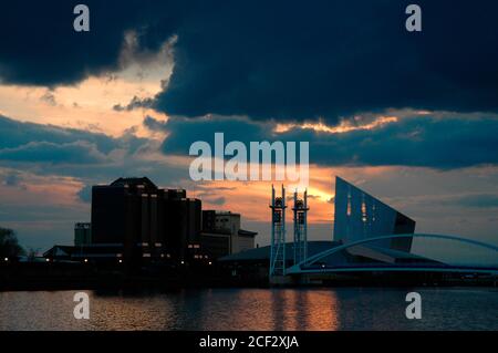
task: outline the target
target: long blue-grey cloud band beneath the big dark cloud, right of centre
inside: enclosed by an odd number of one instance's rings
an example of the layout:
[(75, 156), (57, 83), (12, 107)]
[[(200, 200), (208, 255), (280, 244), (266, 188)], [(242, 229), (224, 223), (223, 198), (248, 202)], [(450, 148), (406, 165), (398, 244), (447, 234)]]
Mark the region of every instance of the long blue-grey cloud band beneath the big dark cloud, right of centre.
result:
[[(153, 126), (152, 118), (148, 122)], [(373, 129), (329, 134), (293, 128), (274, 134), (274, 125), (249, 120), (212, 117), (157, 122), (169, 135), (166, 154), (188, 155), (190, 145), (206, 141), (214, 146), (215, 133), (230, 141), (310, 142), (310, 163), (325, 166), (418, 166), (438, 169), (498, 164), (498, 118), (452, 113), (414, 115)], [(214, 152), (212, 152), (214, 153)]]

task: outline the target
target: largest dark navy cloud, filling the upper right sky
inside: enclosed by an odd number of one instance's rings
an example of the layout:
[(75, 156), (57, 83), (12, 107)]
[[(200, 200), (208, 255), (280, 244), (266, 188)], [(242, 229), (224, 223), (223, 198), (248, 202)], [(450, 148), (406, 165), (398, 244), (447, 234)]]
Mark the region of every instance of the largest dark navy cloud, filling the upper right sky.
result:
[[(387, 107), (498, 108), (498, 4), (417, 1), (230, 1), (178, 31), (156, 107), (168, 114), (335, 122)], [(211, 4), (211, 3), (210, 3)]]

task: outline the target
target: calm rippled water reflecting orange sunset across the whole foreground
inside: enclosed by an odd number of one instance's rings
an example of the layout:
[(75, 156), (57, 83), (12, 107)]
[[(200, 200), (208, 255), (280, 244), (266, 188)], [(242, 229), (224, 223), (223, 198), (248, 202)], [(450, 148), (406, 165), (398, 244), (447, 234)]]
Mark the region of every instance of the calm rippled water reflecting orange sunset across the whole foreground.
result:
[(397, 289), (211, 289), (175, 293), (0, 292), (0, 330), (498, 330), (497, 289), (413, 289), (422, 320), (407, 320)]

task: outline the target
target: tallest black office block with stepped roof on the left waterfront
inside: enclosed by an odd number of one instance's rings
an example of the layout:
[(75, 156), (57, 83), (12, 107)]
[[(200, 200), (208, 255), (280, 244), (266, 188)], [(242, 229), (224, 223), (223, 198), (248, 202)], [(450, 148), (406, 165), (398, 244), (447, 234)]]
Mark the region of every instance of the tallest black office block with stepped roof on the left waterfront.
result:
[(160, 189), (148, 178), (120, 178), (92, 189), (92, 237), (96, 245), (124, 245), (124, 258), (184, 259), (199, 242), (198, 199), (183, 189)]

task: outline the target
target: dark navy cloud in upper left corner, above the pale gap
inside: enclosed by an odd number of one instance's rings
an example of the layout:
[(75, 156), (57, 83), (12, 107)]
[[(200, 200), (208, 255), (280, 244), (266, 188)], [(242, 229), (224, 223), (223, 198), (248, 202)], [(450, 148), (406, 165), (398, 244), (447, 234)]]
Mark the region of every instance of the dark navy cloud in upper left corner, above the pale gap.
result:
[(75, 32), (81, 1), (9, 1), (0, 11), (0, 77), (18, 84), (72, 84), (120, 66), (124, 33), (136, 30), (141, 50), (157, 50), (178, 28), (183, 2), (86, 0), (90, 32)]

